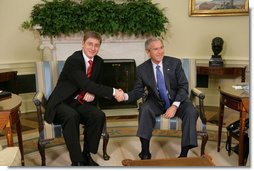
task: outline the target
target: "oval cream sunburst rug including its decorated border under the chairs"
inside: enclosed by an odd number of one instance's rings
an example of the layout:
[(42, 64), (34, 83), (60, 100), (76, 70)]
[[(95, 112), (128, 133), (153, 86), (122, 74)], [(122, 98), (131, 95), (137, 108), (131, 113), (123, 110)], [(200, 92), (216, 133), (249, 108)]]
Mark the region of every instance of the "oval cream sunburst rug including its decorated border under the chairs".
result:
[[(140, 142), (135, 136), (136, 128), (134, 127), (115, 127), (109, 128), (110, 139), (107, 147), (107, 153), (110, 155), (110, 160), (105, 161), (102, 158), (102, 139), (100, 141), (97, 154), (92, 154), (92, 158), (99, 163), (100, 166), (122, 166), (121, 161), (124, 159), (139, 159)], [(170, 136), (169, 136), (170, 135)], [(152, 159), (159, 158), (176, 158), (180, 152), (181, 139), (180, 134), (176, 133), (172, 137), (172, 132), (155, 131), (151, 139), (150, 151)], [(32, 143), (33, 142), (33, 143)], [(32, 144), (31, 144), (32, 143)], [(191, 149), (188, 157), (197, 157), (200, 155), (199, 147)], [(36, 146), (37, 141), (25, 141), (25, 163), (26, 166), (40, 166), (41, 158), (37, 149), (27, 151), (27, 146)], [(81, 142), (82, 146), (82, 142)], [(221, 144), (221, 152), (217, 152), (217, 142), (208, 141), (205, 153), (212, 158), (216, 166), (237, 166), (238, 156), (231, 154), (228, 156), (225, 150), (225, 143)], [(55, 139), (53, 143), (46, 148), (46, 165), (69, 167), (71, 165), (68, 150), (62, 138)]]

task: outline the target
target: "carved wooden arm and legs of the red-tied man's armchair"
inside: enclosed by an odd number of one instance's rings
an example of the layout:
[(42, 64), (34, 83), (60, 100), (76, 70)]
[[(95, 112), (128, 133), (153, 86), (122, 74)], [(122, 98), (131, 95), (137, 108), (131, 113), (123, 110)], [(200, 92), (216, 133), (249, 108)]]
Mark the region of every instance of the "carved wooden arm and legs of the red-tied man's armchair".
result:
[[(37, 119), (38, 119), (38, 131), (39, 131), (39, 137), (38, 137), (38, 150), (41, 156), (41, 165), (42, 166), (46, 166), (46, 156), (45, 156), (45, 148), (46, 145), (51, 143), (54, 138), (56, 137), (61, 137), (62, 134), (53, 134), (53, 136), (51, 138), (46, 138), (45, 134), (45, 124), (46, 121), (44, 120), (44, 111), (45, 111), (45, 106), (47, 103), (47, 99), (44, 96), (43, 92), (37, 92), (33, 98), (33, 102), (36, 106), (36, 112), (37, 112)], [(54, 125), (51, 124), (54, 128), (58, 129), (58, 131), (61, 131), (61, 125)], [(54, 129), (55, 130), (55, 129)], [(103, 151), (103, 159), (104, 160), (109, 160), (110, 156), (107, 154), (107, 145), (108, 145), (108, 141), (109, 141), (109, 134), (107, 132), (107, 127), (106, 127), (106, 120), (105, 120), (105, 124), (104, 124), (104, 128), (102, 131), (102, 138), (103, 138), (103, 147), (102, 147), (102, 151)]]

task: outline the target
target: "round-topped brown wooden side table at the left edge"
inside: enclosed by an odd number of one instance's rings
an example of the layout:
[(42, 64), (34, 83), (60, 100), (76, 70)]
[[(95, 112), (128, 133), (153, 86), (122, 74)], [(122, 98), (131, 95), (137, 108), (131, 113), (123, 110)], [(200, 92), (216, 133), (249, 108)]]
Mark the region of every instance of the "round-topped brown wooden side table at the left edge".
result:
[[(22, 104), (22, 99), (20, 96), (16, 94), (12, 94), (11, 98), (7, 98), (0, 101), (0, 115), (3, 116), (6, 120), (8, 119), (6, 129), (6, 139), (8, 147), (13, 147), (13, 134), (12, 127), (15, 124), (18, 135), (18, 143), (19, 149), (21, 153), (21, 164), (25, 165), (24, 161), (24, 150), (23, 150), (23, 140), (22, 140), (22, 132), (21, 132), (21, 123), (20, 123), (20, 106)], [(8, 118), (7, 118), (8, 117)]]

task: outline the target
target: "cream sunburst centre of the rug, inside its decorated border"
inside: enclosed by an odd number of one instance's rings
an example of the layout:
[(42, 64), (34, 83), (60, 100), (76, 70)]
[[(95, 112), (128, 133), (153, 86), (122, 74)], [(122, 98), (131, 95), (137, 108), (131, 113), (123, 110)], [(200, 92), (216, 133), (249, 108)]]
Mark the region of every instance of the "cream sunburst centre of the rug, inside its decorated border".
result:
[[(140, 142), (137, 137), (112, 137), (108, 144), (108, 154), (110, 160), (102, 159), (102, 141), (97, 154), (92, 155), (93, 159), (100, 166), (122, 166), (123, 159), (139, 159)], [(180, 138), (157, 137), (154, 136), (151, 141), (151, 153), (153, 159), (175, 158), (179, 155)], [(194, 148), (189, 152), (189, 157), (199, 156), (200, 148)], [(212, 157), (216, 166), (237, 167), (238, 155), (232, 153), (228, 156), (225, 150), (225, 143), (221, 145), (221, 152), (217, 152), (217, 143), (209, 141), (206, 146), (206, 154)], [(59, 145), (46, 149), (47, 166), (64, 166), (71, 165), (69, 155), (65, 145)], [(25, 155), (26, 166), (40, 166), (41, 160), (37, 151)], [(247, 165), (249, 167), (249, 165)]]

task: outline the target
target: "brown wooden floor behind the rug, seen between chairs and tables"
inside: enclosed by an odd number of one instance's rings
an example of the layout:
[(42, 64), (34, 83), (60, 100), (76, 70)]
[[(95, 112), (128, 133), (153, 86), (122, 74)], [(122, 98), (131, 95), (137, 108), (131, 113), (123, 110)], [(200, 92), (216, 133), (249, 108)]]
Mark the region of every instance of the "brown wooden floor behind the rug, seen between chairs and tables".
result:
[[(206, 110), (207, 115), (207, 132), (209, 141), (217, 142), (217, 130), (218, 130), (218, 117), (216, 113), (216, 108), (209, 108)], [(224, 117), (224, 128), (222, 130), (222, 142), (226, 141), (226, 129), (225, 126), (228, 123), (236, 120), (239, 117), (239, 114), (235, 111), (228, 111), (225, 109), (225, 117)], [(21, 115), (21, 124), (22, 124), (22, 135), (23, 135), (23, 145), (24, 145), (24, 153), (28, 154), (33, 151), (37, 151), (37, 137), (38, 137), (38, 123), (36, 113), (27, 113)], [(137, 130), (137, 115), (129, 115), (129, 116), (110, 116), (107, 117), (107, 130), (109, 136), (111, 138), (117, 137), (135, 137)], [(17, 138), (15, 129), (14, 131), (14, 142), (17, 145)], [(155, 130), (153, 135), (156, 137), (181, 137), (180, 131), (163, 131), (163, 130)], [(200, 138), (200, 137), (199, 137)], [(82, 139), (82, 137), (81, 137)], [(6, 145), (5, 140), (5, 132), (0, 132), (0, 143), (1, 145)], [(58, 138), (54, 140), (51, 144), (47, 145), (47, 147), (57, 146), (64, 144), (63, 138)]]

